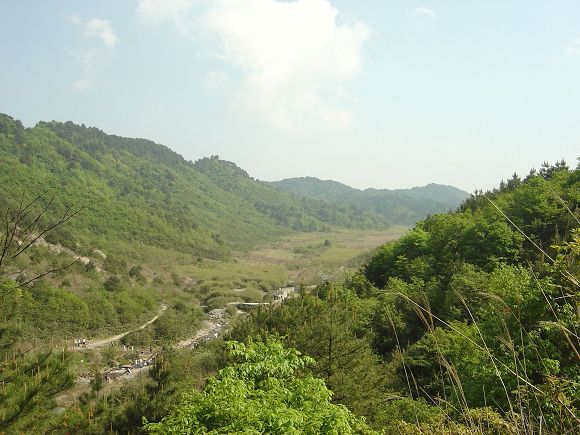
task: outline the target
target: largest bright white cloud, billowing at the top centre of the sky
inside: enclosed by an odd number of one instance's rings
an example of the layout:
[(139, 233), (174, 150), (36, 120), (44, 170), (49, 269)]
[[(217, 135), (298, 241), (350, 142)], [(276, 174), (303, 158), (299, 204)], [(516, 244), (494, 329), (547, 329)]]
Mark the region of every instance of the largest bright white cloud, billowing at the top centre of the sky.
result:
[(344, 23), (327, 0), (214, 0), (198, 21), (241, 79), (232, 110), (276, 127), (352, 118), (343, 85), (362, 67), (369, 28)]

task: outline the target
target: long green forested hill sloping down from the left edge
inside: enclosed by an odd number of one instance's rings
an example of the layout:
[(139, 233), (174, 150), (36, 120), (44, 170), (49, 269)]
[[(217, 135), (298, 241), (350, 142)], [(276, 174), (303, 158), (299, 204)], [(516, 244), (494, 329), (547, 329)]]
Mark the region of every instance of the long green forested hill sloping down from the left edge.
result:
[(152, 141), (72, 122), (24, 128), (0, 114), (0, 161), (0, 208), (51, 187), (60, 192), (48, 220), (67, 205), (92, 204), (52, 233), (69, 247), (124, 240), (223, 257), (290, 231), (390, 224), (350, 205), (282, 192), (217, 156), (192, 163)]

